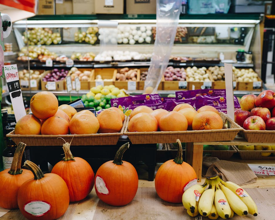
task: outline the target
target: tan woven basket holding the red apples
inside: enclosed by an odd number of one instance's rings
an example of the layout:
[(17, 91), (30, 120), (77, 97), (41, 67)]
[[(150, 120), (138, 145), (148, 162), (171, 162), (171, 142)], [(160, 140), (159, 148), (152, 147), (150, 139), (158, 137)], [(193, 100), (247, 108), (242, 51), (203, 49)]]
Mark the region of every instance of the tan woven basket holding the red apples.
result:
[(275, 143), (275, 131), (243, 129), (240, 134), (250, 143)]

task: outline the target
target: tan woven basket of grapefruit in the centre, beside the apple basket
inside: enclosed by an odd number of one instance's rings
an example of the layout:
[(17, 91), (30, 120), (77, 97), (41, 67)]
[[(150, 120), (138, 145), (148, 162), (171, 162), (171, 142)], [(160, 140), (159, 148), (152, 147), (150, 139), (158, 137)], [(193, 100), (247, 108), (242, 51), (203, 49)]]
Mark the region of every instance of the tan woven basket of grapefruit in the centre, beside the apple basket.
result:
[[(153, 132), (128, 132), (129, 117), (127, 118), (124, 135), (127, 135), (133, 144), (146, 143), (174, 143), (176, 139), (181, 142), (207, 142), (207, 141), (231, 141), (242, 128), (231, 120), (226, 114), (220, 113), (223, 121), (223, 129), (201, 131), (153, 131)], [(227, 121), (230, 128), (225, 125)]]

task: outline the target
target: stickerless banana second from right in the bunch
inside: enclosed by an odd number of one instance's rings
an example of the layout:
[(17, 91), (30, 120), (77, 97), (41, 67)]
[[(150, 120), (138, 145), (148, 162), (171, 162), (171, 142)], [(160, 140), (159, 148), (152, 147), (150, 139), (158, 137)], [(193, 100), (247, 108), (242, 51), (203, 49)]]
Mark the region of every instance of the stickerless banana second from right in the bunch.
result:
[(230, 208), (239, 216), (244, 216), (248, 214), (248, 208), (244, 202), (238, 197), (234, 192), (220, 184), (222, 192), (225, 194), (225, 197), (229, 203)]

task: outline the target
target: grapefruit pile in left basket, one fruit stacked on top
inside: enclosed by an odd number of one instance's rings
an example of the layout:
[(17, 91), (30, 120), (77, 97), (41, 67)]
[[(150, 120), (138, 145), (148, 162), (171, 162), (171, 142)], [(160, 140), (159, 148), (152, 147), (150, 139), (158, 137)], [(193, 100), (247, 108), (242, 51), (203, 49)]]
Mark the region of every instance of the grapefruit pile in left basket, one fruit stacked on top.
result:
[(111, 107), (104, 109), (97, 117), (89, 110), (77, 112), (64, 104), (58, 106), (58, 99), (52, 92), (36, 93), (30, 102), (32, 114), (23, 116), (16, 123), (14, 133), (20, 135), (66, 135), (120, 132), (124, 114)]

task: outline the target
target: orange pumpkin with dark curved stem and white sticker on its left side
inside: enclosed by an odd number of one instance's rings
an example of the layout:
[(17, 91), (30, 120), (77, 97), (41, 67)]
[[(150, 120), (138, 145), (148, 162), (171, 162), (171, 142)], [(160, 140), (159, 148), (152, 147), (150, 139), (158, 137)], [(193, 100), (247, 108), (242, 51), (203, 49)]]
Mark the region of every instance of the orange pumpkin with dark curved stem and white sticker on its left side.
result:
[(131, 163), (122, 161), (129, 142), (117, 151), (114, 161), (102, 164), (95, 175), (95, 191), (99, 199), (112, 206), (123, 206), (131, 202), (138, 189), (139, 177)]

